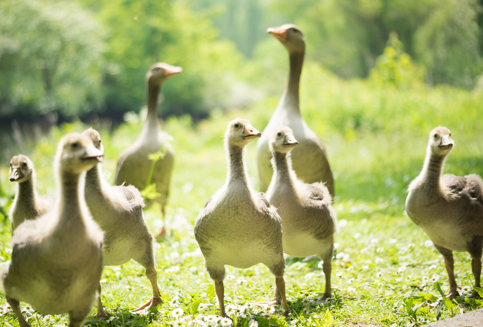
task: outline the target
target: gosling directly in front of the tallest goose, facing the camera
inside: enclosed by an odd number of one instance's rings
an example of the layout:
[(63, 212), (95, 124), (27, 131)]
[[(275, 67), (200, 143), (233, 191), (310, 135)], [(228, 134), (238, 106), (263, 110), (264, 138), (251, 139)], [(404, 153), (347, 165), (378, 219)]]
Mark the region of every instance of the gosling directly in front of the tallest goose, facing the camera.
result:
[[(323, 260), (324, 298), (331, 297), (330, 273), (337, 217), (324, 183), (305, 184), (292, 169), (290, 150), (298, 145), (292, 130), (280, 126), (270, 135), (273, 176), (266, 197), (282, 218), (284, 252), (294, 257), (316, 254)], [(272, 302), (280, 300), (276, 291)]]

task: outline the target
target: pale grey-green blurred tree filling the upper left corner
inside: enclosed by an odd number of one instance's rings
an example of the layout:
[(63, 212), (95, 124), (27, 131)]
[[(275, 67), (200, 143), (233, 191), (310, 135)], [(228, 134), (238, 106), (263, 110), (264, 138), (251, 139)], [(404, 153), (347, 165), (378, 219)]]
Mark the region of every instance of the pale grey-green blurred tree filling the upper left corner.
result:
[(0, 1), (0, 117), (98, 109), (102, 26), (71, 1)]

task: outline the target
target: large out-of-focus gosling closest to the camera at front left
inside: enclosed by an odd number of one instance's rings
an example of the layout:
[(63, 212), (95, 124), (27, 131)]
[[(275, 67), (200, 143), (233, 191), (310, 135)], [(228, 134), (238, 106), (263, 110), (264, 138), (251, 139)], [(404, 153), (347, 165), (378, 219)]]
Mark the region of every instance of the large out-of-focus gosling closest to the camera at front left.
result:
[(69, 313), (70, 327), (80, 327), (92, 310), (102, 272), (102, 231), (85, 205), (80, 181), (101, 155), (87, 137), (64, 136), (55, 159), (56, 204), (15, 230), (12, 260), (0, 280), (21, 327), (30, 325), (19, 301), (41, 313)]

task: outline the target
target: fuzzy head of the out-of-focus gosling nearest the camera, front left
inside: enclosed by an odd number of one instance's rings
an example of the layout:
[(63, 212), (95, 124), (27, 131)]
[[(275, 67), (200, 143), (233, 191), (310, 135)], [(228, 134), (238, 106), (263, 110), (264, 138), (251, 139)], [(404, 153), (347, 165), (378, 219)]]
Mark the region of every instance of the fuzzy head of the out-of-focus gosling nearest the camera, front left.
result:
[(80, 174), (94, 167), (100, 161), (102, 152), (92, 140), (79, 133), (62, 137), (56, 153), (56, 163), (62, 171)]

